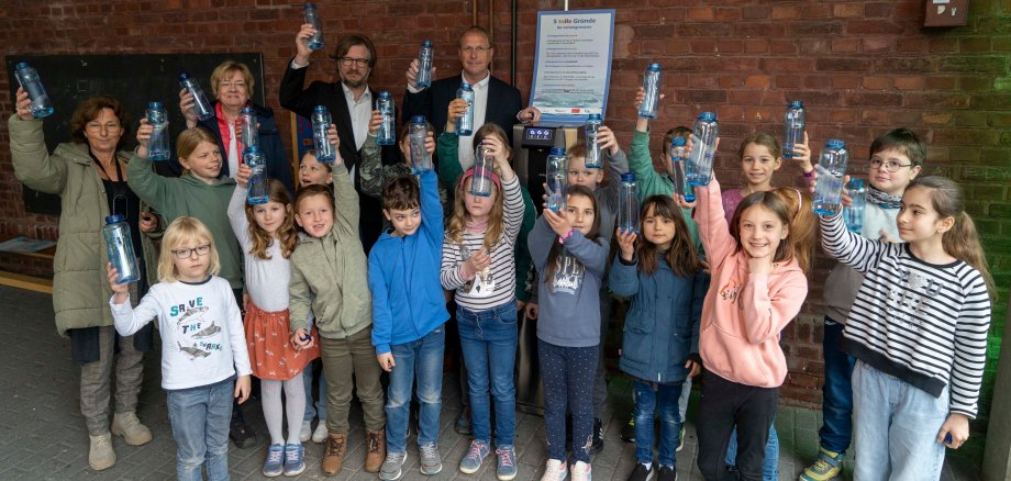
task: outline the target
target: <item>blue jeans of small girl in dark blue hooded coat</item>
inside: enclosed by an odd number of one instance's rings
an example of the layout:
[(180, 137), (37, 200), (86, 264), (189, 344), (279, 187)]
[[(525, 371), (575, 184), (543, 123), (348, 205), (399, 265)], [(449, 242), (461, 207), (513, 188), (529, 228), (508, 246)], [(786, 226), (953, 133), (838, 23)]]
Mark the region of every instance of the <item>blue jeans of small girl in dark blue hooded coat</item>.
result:
[(637, 379), (632, 381), (635, 391), (635, 459), (641, 465), (653, 463), (653, 412), (659, 407), (660, 441), (657, 455), (660, 466), (677, 468), (675, 450), (681, 430), (681, 415), (678, 412), (681, 385), (647, 383)]

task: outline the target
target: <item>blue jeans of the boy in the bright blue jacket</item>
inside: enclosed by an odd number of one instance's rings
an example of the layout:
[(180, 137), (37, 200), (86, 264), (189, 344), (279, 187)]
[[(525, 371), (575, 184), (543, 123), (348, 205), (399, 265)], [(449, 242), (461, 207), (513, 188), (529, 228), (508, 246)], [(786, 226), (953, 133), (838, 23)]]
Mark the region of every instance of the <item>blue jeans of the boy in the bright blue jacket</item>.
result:
[(442, 409), (442, 365), (446, 349), (446, 327), (438, 326), (424, 337), (390, 346), (393, 370), (386, 394), (386, 449), (407, 452), (408, 423), (411, 417), (411, 388), (418, 380), (418, 444), (438, 440), (438, 411)]

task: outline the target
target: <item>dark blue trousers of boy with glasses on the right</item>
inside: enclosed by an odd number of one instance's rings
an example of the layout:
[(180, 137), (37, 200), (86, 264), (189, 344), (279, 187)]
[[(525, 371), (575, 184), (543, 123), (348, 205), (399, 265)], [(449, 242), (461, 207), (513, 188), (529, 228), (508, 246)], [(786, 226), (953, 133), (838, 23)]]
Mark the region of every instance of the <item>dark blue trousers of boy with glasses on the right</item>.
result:
[(825, 317), (822, 353), (825, 356), (825, 385), (822, 388), (821, 447), (846, 452), (853, 438), (853, 366), (856, 359), (838, 348), (843, 325)]

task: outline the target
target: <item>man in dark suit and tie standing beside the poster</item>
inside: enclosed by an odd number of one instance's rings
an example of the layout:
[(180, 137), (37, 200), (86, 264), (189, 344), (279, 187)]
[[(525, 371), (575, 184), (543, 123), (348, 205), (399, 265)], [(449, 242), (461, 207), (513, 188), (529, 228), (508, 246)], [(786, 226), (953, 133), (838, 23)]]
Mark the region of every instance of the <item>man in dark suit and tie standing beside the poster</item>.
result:
[[(435, 125), (436, 138), (446, 125), (446, 112), (449, 102), (456, 99), (460, 83), (467, 82), (474, 89), (474, 131), (481, 125), (493, 123), (505, 131), (512, 138), (512, 126), (519, 122), (537, 122), (541, 111), (535, 107), (523, 108), (520, 91), (491, 75), (491, 59), (495, 47), (491, 36), (481, 26), (471, 26), (459, 37), (460, 75), (435, 80), (426, 89), (418, 88), (418, 59), (411, 63), (407, 71), (408, 88), (403, 96), (403, 122), (413, 115), (424, 115)], [(433, 71), (435, 69), (433, 68)], [(489, 99), (493, 99), (489, 102)], [(474, 150), (470, 148), (473, 136), (459, 138), (459, 163), (464, 170), (474, 165)]]

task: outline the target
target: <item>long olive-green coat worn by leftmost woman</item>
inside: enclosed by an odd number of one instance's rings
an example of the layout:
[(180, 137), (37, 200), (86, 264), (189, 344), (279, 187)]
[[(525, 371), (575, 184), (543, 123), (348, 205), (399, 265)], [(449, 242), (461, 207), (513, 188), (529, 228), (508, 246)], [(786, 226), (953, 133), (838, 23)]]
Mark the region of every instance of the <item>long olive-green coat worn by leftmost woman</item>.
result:
[[(53, 154), (46, 150), (42, 120), (23, 121), (11, 115), (11, 160), (14, 176), (40, 192), (60, 197), (59, 239), (53, 261), (53, 310), (56, 329), (110, 326), (112, 313), (109, 298), (112, 291), (105, 279), (105, 239), (102, 226), (109, 215), (109, 201), (98, 169), (88, 154), (88, 146), (78, 143), (59, 144)], [(118, 156), (129, 159), (130, 153)], [(142, 204), (142, 209), (147, 208)], [(147, 280), (154, 284), (158, 271), (158, 254), (151, 238), (141, 236)]]

